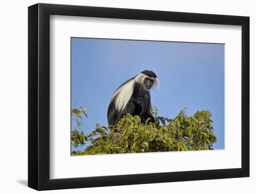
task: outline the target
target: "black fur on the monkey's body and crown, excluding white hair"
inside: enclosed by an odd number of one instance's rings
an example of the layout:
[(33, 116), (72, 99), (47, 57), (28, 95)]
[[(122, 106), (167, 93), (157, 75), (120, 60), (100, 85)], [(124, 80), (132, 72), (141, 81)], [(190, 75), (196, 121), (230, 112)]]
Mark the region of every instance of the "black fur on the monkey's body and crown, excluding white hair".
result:
[[(148, 77), (156, 78), (155, 73), (152, 71), (145, 70), (141, 73), (148, 75)], [(131, 79), (134, 79), (134, 78), (131, 78)], [(125, 83), (127, 83), (128, 81), (126, 81)], [(122, 112), (118, 112), (115, 109), (115, 99), (111, 100), (108, 106), (108, 124), (115, 125), (127, 113), (133, 116), (139, 115), (141, 117), (142, 123), (145, 123), (145, 121), (148, 118), (151, 118), (150, 122), (155, 122), (155, 118), (150, 113), (150, 109), (151, 109), (151, 100), (150, 100), (149, 91), (145, 89), (145, 87), (143, 87), (141, 83), (136, 82), (132, 97), (130, 98), (127, 106)]]

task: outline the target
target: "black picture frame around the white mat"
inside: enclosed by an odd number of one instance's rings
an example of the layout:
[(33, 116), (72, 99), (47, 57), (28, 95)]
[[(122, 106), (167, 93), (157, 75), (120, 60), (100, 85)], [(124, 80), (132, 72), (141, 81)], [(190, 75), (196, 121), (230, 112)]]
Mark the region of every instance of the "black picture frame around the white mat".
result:
[[(217, 170), (50, 179), (50, 15), (242, 26), (242, 167)], [(249, 176), (249, 17), (201, 13), (36, 4), (28, 7), (28, 187), (102, 187)]]

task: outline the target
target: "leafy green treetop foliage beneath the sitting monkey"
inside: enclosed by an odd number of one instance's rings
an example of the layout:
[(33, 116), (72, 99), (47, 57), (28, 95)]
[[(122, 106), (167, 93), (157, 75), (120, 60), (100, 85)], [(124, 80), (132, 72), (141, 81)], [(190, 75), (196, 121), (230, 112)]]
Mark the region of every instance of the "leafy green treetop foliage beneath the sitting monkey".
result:
[(74, 151), (72, 155), (212, 149), (216, 136), (210, 112), (202, 110), (194, 116), (187, 116), (185, 110), (180, 111), (174, 119), (168, 119), (156, 116), (157, 108), (154, 106), (152, 114), (155, 123), (148, 119), (146, 124), (142, 124), (139, 116), (127, 114), (116, 125), (108, 128), (96, 124), (96, 129), (85, 135), (84, 139), (73, 140), (80, 144), (81, 140), (90, 141), (91, 144), (83, 152)]

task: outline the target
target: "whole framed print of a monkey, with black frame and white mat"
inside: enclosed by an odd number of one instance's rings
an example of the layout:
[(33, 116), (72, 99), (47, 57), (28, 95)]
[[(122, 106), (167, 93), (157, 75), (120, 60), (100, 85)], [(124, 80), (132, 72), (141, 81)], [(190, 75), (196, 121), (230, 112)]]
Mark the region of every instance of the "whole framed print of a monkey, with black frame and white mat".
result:
[(28, 187), (248, 177), (249, 17), (33, 5), (28, 97)]

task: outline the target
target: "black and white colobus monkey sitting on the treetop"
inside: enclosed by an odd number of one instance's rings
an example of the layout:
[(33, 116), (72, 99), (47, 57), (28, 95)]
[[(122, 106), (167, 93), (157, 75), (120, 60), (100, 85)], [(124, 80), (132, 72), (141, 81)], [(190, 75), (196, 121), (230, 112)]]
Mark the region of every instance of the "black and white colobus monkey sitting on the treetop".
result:
[(125, 114), (139, 115), (141, 122), (145, 123), (148, 118), (155, 122), (150, 113), (151, 100), (149, 90), (157, 86), (159, 80), (153, 71), (142, 71), (124, 82), (113, 94), (108, 106), (108, 124), (115, 125)]

